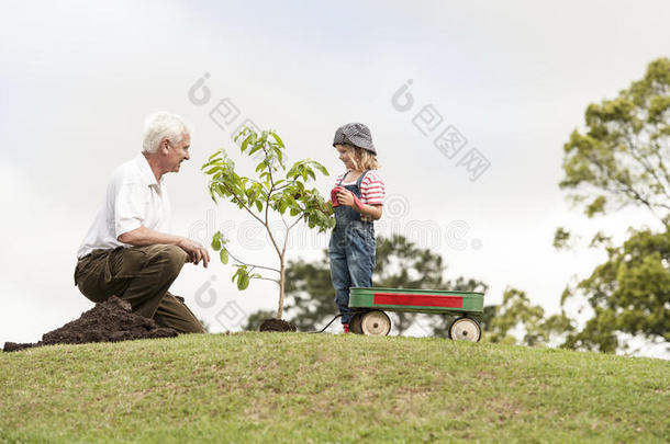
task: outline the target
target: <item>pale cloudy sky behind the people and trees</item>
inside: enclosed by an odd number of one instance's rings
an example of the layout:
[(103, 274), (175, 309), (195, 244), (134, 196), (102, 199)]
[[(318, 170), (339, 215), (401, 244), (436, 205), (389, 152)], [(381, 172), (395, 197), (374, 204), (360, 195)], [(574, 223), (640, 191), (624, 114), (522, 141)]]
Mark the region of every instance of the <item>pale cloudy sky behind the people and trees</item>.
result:
[[(667, 1), (0, 0), (0, 343), (37, 341), (92, 307), (74, 286), (76, 251), (155, 111), (194, 128), (190, 162), (166, 177), (174, 232), (209, 243), (224, 229), (260, 263), (276, 264), (260, 228), (214, 204), (200, 171), (220, 148), (250, 167), (231, 140), (247, 119), (277, 129), (290, 160), (323, 163), (324, 195), (343, 170), (335, 129), (366, 123), (387, 185), (377, 232), (439, 252), (447, 278), (482, 280), (485, 304), (515, 287), (560, 309), (566, 284), (604, 257), (556, 251), (558, 226), (618, 241), (630, 225), (656, 227), (636, 208), (589, 220), (558, 183), (588, 104), (669, 55)], [(447, 156), (435, 140), (454, 134), (462, 143)], [(291, 241), (289, 259), (313, 260), (327, 235), (300, 228)], [(232, 270), (187, 264), (171, 287), (212, 331), (277, 305), (272, 283), (241, 293)]]

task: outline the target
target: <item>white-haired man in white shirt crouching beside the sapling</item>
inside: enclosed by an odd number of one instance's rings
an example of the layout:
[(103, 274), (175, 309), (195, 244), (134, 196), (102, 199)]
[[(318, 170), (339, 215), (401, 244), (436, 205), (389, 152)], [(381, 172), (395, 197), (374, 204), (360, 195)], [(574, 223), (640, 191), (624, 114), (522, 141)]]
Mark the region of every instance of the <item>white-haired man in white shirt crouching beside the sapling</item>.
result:
[(116, 295), (133, 311), (181, 333), (202, 325), (168, 292), (186, 262), (206, 267), (206, 249), (169, 235), (170, 203), (164, 174), (189, 160), (190, 130), (177, 115), (160, 112), (145, 122), (142, 152), (116, 168), (104, 204), (77, 252), (75, 285), (93, 303)]

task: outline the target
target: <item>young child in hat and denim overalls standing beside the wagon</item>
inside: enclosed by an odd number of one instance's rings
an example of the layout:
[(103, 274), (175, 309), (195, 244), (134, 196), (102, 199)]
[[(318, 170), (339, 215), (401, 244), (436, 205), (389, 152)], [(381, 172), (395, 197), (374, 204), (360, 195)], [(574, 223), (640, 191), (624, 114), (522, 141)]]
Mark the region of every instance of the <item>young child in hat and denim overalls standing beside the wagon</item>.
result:
[(360, 123), (340, 126), (333, 146), (347, 171), (337, 177), (331, 193), (335, 229), (328, 257), (335, 303), (349, 332), (349, 287), (371, 287), (375, 269), (375, 227), (381, 217), (384, 184), (377, 173), (377, 150), (370, 129)]

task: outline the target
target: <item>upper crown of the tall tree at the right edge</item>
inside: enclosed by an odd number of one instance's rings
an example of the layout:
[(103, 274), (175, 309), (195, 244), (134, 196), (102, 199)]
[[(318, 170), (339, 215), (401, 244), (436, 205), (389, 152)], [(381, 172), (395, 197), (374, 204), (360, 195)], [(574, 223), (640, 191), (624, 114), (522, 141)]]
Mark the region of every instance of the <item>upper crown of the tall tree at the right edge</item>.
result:
[(560, 187), (589, 217), (635, 205), (668, 226), (670, 210), (670, 60), (649, 64), (641, 80), (613, 100), (591, 104), (587, 132), (565, 145)]

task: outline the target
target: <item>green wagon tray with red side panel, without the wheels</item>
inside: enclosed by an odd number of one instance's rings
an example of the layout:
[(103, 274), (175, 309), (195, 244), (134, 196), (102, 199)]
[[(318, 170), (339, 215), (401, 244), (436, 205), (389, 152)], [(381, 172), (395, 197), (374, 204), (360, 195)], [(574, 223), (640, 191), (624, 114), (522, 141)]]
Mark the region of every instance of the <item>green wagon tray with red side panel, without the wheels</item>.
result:
[(426, 314), (481, 314), (483, 293), (351, 287), (349, 308)]

